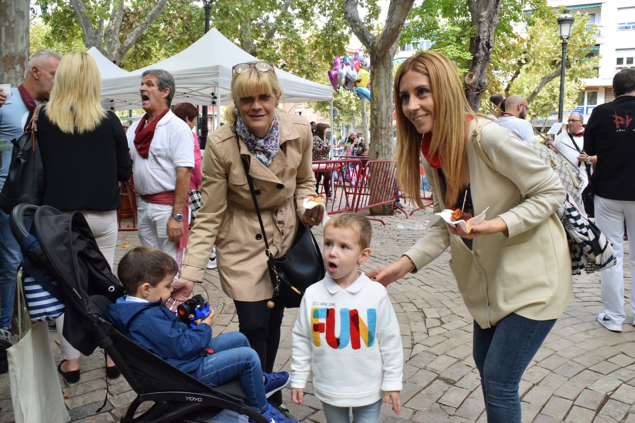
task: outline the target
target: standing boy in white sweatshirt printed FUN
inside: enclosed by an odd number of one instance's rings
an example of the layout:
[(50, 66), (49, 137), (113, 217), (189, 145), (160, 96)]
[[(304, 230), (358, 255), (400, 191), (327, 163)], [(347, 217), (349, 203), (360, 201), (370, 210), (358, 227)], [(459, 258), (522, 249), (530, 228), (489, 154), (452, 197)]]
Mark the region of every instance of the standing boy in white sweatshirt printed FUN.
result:
[[(328, 423), (378, 423), (382, 400), (401, 410), (403, 352), (386, 289), (359, 271), (370, 257), (370, 221), (336, 214), (324, 227), (327, 275), (309, 287), (291, 338), (291, 399), (313, 391)], [(336, 336), (337, 334), (337, 336)]]

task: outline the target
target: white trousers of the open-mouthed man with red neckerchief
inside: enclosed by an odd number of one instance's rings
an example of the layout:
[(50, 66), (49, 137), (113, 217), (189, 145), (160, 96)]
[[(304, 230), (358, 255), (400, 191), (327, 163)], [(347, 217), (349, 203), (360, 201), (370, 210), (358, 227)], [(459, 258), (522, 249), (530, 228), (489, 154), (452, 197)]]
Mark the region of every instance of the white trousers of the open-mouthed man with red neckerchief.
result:
[(137, 208), (137, 230), (141, 245), (159, 249), (176, 260), (177, 247), (168, 237), (168, 219), (171, 213), (171, 205), (149, 203), (140, 198)]

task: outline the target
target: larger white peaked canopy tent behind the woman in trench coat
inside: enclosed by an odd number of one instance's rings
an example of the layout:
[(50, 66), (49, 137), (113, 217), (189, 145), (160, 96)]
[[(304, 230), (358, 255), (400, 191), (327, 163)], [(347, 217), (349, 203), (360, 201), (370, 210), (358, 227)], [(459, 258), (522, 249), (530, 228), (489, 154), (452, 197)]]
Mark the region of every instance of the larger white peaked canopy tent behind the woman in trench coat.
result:
[[(144, 70), (158, 68), (170, 72), (176, 82), (172, 103), (189, 101), (195, 105), (227, 105), (232, 66), (258, 60), (212, 28), (184, 51), (170, 58), (122, 74), (102, 74), (102, 104), (110, 110), (140, 108), (139, 86)], [(333, 89), (276, 68), (284, 94), (283, 101), (332, 101)], [(218, 110), (218, 109), (216, 109)], [(218, 114), (217, 114), (218, 117)], [(220, 117), (218, 117), (220, 122)]]

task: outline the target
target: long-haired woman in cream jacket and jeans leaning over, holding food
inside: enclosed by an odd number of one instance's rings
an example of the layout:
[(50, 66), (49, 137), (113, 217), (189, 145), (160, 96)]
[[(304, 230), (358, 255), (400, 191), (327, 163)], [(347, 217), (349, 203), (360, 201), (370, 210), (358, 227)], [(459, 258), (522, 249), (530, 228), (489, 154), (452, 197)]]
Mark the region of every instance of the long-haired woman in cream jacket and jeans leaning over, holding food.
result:
[(422, 51), (408, 58), (394, 90), (401, 190), (420, 203), (423, 153), (434, 212), (461, 208), (464, 198), (474, 216), (490, 209), (469, 233), (434, 216), (399, 261), (368, 276), (388, 285), (450, 247), (448, 264), (474, 317), (473, 354), (487, 420), (519, 423), (521, 375), (572, 301), (571, 259), (554, 213), (565, 190), (534, 150), (472, 112), (445, 56)]

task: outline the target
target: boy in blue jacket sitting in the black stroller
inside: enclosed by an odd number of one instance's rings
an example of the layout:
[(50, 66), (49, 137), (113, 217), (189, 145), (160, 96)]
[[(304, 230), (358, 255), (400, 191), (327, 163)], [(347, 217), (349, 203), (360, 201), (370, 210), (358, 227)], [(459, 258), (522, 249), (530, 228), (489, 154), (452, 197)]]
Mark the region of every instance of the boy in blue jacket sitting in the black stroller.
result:
[[(239, 377), (247, 404), (270, 422), (298, 423), (267, 403), (269, 396), (289, 384), (287, 372), (263, 373), (258, 354), (240, 332), (212, 338), (213, 310), (190, 329), (164, 307), (177, 270), (177, 263), (163, 251), (150, 247), (132, 249), (117, 267), (127, 295), (108, 306), (106, 318), (126, 337), (208, 386)], [(206, 356), (208, 348), (214, 353)]]

